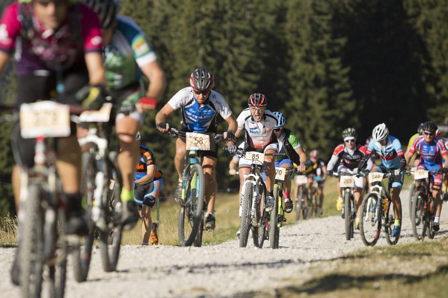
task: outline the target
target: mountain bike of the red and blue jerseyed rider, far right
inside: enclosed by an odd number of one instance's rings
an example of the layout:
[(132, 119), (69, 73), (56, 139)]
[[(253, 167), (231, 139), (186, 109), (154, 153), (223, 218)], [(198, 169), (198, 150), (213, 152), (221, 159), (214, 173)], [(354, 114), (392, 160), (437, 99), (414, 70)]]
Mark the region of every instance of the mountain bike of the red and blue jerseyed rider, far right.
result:
[(427, 171), (424, 169), (416, 169), (415, 171), (406, 170), (406, 174), (414, 175), (414, 180), (418, 184), (415, 187), (411, 208), (412, 233), (418, 241), (422, 241), (425, 236), (433, 239), (436, 234), (433, 231), (433, 220), (436, 209), (433, 208), (434, 198), (430, 188), (431, 175), (447, 172), (447, 170), (444, 168), (437, 171)]

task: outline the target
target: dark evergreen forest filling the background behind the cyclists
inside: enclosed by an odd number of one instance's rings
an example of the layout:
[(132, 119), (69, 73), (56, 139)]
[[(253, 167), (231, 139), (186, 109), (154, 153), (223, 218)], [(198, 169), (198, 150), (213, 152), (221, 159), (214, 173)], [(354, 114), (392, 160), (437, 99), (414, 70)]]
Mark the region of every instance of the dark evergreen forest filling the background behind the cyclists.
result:
[[(348, 126), (364, 143), (385, 122), (406, 144), (423, 120), (446, 121), (448, 0), (123, 0), (121, 14), (141, 26), (166, 73), (158, 108), (204, 65), (235, 116), (251, 93), (264, 93), (304, 148), (325, 160)], [(0, 100), (12, 102), (14, 87), (10, 66)], [(145, 114), (141, 132), (170, 196), (174, 139), (155, 131), (155, 113)], [(178, 112), (168, 122), (179, 121)], [(0, 124), (1, 215), (12, 209), (10, 130)], [(220, 189), (237, 183), (226, 175), (228, 160), (220, 152)]]

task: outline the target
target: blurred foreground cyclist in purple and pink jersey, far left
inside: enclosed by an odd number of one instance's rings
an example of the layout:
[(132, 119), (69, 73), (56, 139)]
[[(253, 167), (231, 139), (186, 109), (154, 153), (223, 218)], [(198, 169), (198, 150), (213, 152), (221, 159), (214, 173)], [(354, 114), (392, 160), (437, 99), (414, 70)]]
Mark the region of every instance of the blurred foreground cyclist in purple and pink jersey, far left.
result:
[[(0, 21), (0, 73), (14, 50), (17, 108), (22, 103), (42, 99), (92, 109), (101, 107), (105, 97), (101, 25), (89, 7), (74, 0), (31, 0), (10, 4)], [(77, 96), (80, 89), (84, 90), (81, 92), (83, 96)], [(23, 139), (17, 124), (12, 143), (17, 164), (13, 169), (12, 184), (18, 208), (20, 172), (22, 167), (34, 165), (35, 140)], [(57, 168), (68, 200), (67, 232), (83, 234), (87, 232), (87, 224), (79, 192), (81, 152), (74, 125), (70, 137), (55, 139), (55, 148)], [(13, 266), (14, 283), (17, 283), (18, 269)]]

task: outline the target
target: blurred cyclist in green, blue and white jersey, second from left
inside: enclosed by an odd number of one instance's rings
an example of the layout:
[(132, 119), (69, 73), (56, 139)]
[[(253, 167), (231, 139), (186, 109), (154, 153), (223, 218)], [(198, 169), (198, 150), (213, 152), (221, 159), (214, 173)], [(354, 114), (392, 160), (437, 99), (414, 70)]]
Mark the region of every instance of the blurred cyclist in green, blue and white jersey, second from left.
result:
[[(130, 18), (117, 15), (114, 0), (82, 0), (100, 18), (104, 39), (104, 65), (107, 89), (115, 109), (115, 132), (120, 152), (118, 167), (123, 178), (121, 188), (121, 222), (125, 230), (138, 220), (133, 202), (132, 185), (139, 149), (135, 134), (143, 122), (143, 110), (155, 109), (157, 99), (165, 88), (165, 76), (146, 35)], [(149, 79), (145, 90), (143, 75)]]

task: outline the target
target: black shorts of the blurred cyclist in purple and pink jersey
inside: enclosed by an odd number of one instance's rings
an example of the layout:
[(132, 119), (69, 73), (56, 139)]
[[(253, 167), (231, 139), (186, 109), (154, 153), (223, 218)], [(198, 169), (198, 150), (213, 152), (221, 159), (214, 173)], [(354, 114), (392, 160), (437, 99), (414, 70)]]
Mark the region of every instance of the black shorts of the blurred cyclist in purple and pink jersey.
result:
[[(79, 103), (76, 100), (76, 92), (89, 84), (89, 73), (83, 63), (72, 67), (62, 73), (64, 92), (57, 97), (57, 101), (64, 104)], [(57, 76), (52, 71), (38, 71), (32, 74), (17, 76), (16, 107), (22, 103), (31, 103), (37, 100), (50, 100), (55, 98)], [(76, 125), (71, 124), (71, 135), (76, 134)], [(20, 135), (20, 125), (17, 123), (12, 130), (12, 150), (15, 162), (21, 166), (32, 167), (34, 165), (35, 139), (23, 139)], [(57, 140), (55, 141), (57, 148)], [(17, 160), (18, 159), (18, 160)]]

